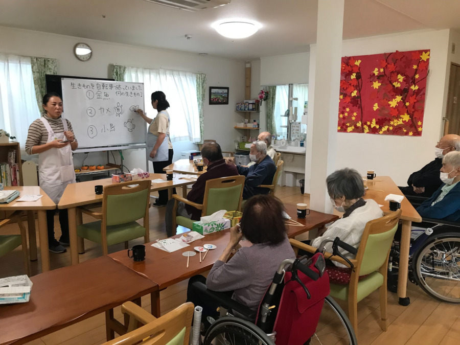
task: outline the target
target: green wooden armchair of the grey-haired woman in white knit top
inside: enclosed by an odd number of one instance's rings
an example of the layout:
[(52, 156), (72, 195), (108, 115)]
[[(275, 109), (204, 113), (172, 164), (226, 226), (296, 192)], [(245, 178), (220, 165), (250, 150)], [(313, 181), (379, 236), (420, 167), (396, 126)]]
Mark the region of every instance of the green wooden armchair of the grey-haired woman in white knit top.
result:
[[(354, 268), (351, 273), (349, 285), (331, 283), (331, 296), (342, 301), (348, 301), (348, 317), (355, 332), (358, 331), (358, 302), (379, 289), (380, 292), (380, 327), (387, 330), (387, 291), (386, 277), (388, 271), (388, 257), (392, 246), (393, 237), (398, 228), (401, 210), (367, 222), (358, 253), (355, 259), (349, 259)], [(316, 248), (296, 240), (289, 240), (297, 254), (298, 249), (304, 249), (314, 253)], [(348, 267), (350, 265), (338, 256), (325, 252), (325, 259), (339, 262)], [(361, 275), (366, 275), (358, 281)]]

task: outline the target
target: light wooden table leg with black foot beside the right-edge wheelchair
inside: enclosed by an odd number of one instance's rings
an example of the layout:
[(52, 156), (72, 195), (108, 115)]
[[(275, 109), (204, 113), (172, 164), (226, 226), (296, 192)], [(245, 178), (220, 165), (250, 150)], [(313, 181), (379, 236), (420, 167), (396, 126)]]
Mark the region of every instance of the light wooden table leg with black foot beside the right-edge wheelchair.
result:
[(399, 255), (399, 273), (398, 273), (398, 296), (399, 304), (408, 306), (410, 304), (407, 297), (407, 277), (409, 268), (409, 246), (410, 246), (410, 230), (412, 222), (410, 220), (402, 221), (401, 229), (401, 244)]

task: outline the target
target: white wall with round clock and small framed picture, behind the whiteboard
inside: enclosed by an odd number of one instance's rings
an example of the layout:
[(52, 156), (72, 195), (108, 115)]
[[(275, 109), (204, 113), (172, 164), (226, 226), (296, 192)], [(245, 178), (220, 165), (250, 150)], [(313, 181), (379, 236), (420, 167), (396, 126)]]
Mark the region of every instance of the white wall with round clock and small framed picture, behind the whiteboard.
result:
[[(58, 59), (58, 74), (61, 75), (107, 78), (110, 63), (205, 73), (207, 81), (203, 139), (217, 140), (224, 151), (234, 148), (236, 131), (233, 126), (238, 117), (234, 109), (235, 103), (244, 99), (245, 61), (6, 27), (0, 27), (0, 42), (2, 42), (0, 46), (2, 54)], [(93, 49), (90, 60), (81, 62), (75, 58), (73, 48), (78, 42), (86, 42)], [(230, 88), (228, 105), (209, 105), (209, 86), (228, 86)], [(173, 146), (175, 157), (178, 157), (180, 151), (196, 148), (196, 145), (190, 142), (174, 143)], [(125, 150), (124, 156), (128, 168), (145, 167), (145, 150)], [(83, 156), (77, 154), (74, 159), (75, 165), (78, 166)], [(91, 153), (85, 160), (85, 164), (105, 163), (105, 159), (103, 155)]]

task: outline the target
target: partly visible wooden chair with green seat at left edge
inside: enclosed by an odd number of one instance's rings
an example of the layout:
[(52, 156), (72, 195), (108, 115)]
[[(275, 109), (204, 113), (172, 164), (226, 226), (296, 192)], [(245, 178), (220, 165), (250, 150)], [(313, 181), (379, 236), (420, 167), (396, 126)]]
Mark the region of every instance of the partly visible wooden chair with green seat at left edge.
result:
[(27, 235), (26, 227), (21, 220), (22, 211), (15, 211), (8, 218), (0, 221), (0, 228), (11, 222), (17, 222), (19, 226), (20, 235), (0, 235), (0, 257), (3, 257), (8, 252), (14, 250), (18, 246), (22, 245), (22, 256), (24, 257), (24, 267), (26, 274), (30, 276), (29, 270), (29, 255), (27, 252)]

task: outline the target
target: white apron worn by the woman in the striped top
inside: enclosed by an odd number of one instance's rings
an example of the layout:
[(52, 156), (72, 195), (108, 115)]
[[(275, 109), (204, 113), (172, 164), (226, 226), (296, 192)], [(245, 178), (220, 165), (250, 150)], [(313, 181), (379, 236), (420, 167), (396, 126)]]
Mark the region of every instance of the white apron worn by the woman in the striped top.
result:
[[(48, 131), (48, 142), (60, 139), (66, 140), (64, 133), (54, 133), (45, 118), (40, 118)], [(67, 121), (61, 118), (64, 131), (67, 131)], [(61, 149), (51, 148), (38, 154), (38, 177), (40, 187), (58, 204), (64, 193), (65, 186), (75, 183), (75, 170), (72, 159), (72, 148), (66, 145)]]

